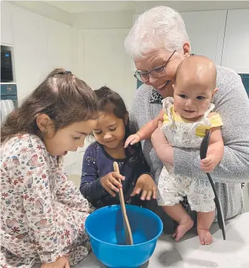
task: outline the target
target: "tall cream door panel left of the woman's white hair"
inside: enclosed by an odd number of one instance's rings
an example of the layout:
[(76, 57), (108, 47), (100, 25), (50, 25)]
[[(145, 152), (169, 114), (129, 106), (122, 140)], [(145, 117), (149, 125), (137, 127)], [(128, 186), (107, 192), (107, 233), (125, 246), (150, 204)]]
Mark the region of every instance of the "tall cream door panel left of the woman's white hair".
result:
[(124, 50), (129, 29), (86, 30), (80, 32), (79, 61), (83, 79), (93, 89), (108, 86), (120, 93), (129, 108), (136, 89), (130, 57)]

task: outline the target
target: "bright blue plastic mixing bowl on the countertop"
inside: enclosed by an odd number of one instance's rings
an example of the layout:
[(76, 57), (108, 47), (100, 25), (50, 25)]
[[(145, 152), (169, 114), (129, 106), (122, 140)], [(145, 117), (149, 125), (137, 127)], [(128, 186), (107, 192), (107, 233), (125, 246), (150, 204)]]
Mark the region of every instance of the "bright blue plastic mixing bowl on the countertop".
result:
[(92, 251), (110, 268), (137, 268), (152, 256), (157, 239), (163, 230), (161, 219), (143, 207), (126, 205), (134, 245), (124, 239), (120, 205), (102, 207), (92, 212), (85, 221)]

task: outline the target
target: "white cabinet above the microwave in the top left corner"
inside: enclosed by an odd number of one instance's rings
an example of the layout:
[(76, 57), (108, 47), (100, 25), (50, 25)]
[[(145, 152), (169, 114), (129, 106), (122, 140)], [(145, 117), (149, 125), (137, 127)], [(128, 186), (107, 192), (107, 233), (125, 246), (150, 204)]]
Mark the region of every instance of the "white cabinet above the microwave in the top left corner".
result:
[(1, 43), (13, 44), (11, 4), (1, 1)]

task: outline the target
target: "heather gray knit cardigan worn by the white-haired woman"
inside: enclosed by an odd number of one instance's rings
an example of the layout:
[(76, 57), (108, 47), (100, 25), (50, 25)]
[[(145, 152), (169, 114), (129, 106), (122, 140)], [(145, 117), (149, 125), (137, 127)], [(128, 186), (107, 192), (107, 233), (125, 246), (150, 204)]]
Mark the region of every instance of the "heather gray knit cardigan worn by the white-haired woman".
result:
[[(216, 182), (224, 217), (228, 219), (243, 212), (240, 183), (249, 181), (249, 100), (240, 76), (231, 69), (217, 66), (217, 87), (219, 90), (213, 104), (223, 120), (225, 149), (220, 165), (211, 172), (211, 176)], [(161, 105), (149, 103), (151, 93), (152, 86), (138, 88), (130, 113), (132, 130), (137, 131), (159, 114)], [(150, 140), (142, 141), (142, 148), (157, 182), (162, 163)], [(199, 163), (199, 150), (174, 148), (176, 174), (208, 180)]]

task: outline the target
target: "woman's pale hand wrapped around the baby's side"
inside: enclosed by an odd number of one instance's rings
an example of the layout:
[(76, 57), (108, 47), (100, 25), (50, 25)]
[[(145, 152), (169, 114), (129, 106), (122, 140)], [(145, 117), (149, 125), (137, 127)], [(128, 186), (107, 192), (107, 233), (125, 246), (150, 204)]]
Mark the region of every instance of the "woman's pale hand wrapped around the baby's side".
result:
[(163, 163), (174, 165), (174, 148), (166, 140), (161, 129), (161, 121), (158, 123), (158, 128), (152, 134), (152, 145), (157, 153), (158, 158)]

